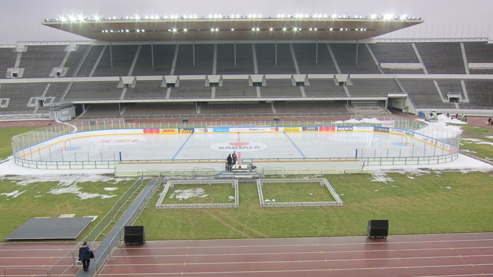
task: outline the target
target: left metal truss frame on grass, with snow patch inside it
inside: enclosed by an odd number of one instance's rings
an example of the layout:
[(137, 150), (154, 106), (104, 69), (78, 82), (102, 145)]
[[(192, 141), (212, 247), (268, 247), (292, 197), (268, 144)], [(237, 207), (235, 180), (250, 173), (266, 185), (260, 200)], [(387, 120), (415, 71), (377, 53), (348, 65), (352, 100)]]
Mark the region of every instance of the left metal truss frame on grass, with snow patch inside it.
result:
[[(163, 182), (164, 183), (164, 182)], [(214, 204), (162, 204), (168, 190), (179, 184), (224, 184), (231, 183), (235, 189), (235, 203), (214, 203)], [(238, 197), (238, 180), (169, 180), (164, 184), (163, 192), (159, 197), (156, 208), (238, 208), (240, 198)]]

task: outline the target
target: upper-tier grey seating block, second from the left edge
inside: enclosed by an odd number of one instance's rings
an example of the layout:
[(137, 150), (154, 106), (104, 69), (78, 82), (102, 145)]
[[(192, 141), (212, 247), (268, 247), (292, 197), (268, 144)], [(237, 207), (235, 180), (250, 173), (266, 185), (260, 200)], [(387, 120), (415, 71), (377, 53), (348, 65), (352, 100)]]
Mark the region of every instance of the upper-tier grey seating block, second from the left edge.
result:
[(22, 53), (20, 68), (24, 69), (23, 78), (48, 78), (54, 67), (59, 67), (67, 52), (66, 45), (27, 46)]

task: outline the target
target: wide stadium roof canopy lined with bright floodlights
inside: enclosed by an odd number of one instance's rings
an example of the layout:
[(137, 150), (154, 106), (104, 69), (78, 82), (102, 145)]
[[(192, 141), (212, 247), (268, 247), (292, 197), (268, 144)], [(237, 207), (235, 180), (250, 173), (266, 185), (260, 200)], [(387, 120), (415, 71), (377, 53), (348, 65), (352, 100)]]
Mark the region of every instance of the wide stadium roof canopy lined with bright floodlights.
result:
[(357, 40), (414, 26), (421, 17), (282, 16), (45, 19), (45, 26), (101, 41)]

